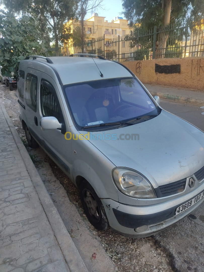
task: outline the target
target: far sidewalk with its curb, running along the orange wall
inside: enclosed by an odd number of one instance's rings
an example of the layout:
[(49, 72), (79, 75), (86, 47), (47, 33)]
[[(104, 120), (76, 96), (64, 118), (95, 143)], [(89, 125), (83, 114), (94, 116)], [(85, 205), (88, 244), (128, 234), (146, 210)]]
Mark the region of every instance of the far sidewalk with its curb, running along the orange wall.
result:
[(144, 85), (153, 96), (158, 95), (160, 98), (174, 100), (175, 102), (204, 106), (204, 90), (202, 92), (159, 85)]

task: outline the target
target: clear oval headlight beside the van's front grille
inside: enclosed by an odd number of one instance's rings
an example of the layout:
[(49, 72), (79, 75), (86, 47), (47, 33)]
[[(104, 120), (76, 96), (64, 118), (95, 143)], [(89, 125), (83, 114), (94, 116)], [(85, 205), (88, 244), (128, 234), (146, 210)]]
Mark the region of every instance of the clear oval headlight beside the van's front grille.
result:
[(123, 193), (135, 198), (154, 198), (156, 194), (152, 185), (137, 171), (128, 168), (115, 168), (112, 172), (113, 181)]

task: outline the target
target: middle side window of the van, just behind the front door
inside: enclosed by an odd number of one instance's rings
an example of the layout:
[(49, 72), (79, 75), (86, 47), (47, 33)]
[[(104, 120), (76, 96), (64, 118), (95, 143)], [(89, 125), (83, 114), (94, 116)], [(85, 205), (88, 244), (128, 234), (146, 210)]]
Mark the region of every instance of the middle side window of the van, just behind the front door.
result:
[(25, 99), (27, 106), (34, 112), (37, 110), (37, 85), (38, 78), (30, 73), (27, 73)]

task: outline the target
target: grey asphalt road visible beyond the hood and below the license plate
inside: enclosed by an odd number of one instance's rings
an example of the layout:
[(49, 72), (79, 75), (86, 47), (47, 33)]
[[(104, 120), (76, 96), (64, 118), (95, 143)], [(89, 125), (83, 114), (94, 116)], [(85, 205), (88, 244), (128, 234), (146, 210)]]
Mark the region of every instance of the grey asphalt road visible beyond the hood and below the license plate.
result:
[[(161, 100), (160, 106), (187, 120), (204, 131), (204, 109), (187, 104)], [(204, 106), (204, 105), (203, 105)], [(204, 271), (204, 203), (192, 214), (172, 227), (154, 236), (159, 247), (163, 246), (172, 258), (176, 271)]]

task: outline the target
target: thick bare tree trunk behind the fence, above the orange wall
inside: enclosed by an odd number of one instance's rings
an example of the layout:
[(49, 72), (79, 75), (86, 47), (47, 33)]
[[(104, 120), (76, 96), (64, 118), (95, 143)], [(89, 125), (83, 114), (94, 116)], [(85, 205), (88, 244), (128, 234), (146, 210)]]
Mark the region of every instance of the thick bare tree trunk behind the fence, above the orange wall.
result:
[(165, 55), (166, 41), (168, 39), (168, 35), (165, 33), (165, 27), (170, 23), (171, 0), (162, 0), (162, 13), (162, 27), (161, 33), (159, 33), (158, 40), (156, 41), (155, 58), (164, 58)]

